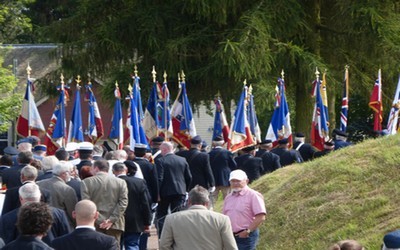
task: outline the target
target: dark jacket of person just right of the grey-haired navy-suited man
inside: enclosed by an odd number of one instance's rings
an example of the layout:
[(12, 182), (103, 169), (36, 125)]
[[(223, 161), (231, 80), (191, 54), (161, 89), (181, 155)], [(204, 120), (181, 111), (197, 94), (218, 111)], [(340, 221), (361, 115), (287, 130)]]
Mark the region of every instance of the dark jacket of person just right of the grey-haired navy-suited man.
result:
[(192, 174), (192, 182), (190, 183), (189, 190), (196, 185), (200, 185), (206, 189), (215, 186), (208, 154), (191, 148), (190, 150), (181, 151), (179, 155), (185, 157), (189, 163), (190, 173)]

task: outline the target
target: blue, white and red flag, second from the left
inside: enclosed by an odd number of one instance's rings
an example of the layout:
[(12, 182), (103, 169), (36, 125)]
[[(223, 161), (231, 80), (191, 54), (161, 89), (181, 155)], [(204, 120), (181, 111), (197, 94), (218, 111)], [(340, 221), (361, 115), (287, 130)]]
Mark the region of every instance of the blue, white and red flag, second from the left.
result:
[(51, 116), (49, 127), (46, 131), (44, 144), (47, 146), (47, 155), (54, 155), (58, 148), (63, 147), (65, 144), (66, 120), (65, 120), (65, 106), (66, 106), (66, 86), (61, 82), (58, 88), (60, 95), (58, 97), (53, 115)]

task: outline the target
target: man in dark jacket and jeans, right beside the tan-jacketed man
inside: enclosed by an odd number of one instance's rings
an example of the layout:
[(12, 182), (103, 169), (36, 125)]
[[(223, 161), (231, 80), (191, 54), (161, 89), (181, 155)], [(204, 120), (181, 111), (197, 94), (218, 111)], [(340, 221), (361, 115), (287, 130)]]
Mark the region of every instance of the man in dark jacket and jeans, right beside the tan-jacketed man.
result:
[(146, 181), (133, 176), (127, 176), (126, 172), (127, 167), (124, 163), (117, 162), (113, 165), (113, 174), (125, 180), (128, 188), (128, 206), (126, 208), (128, 212), (125, 213), (123, 244), (125, 249), (139, 249), (140, 235), (142, 233), (150, 233), (150, 196)]

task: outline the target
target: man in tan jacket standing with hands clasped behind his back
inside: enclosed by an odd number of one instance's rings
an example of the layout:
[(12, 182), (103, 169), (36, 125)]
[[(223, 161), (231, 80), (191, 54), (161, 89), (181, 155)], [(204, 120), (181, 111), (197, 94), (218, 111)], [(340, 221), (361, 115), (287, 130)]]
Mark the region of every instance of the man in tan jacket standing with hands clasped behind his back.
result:
[(96, 229), (115, 237), (120, 242), (125, 230), (124, 213), (128, 206), (128, 188), (126, 182), (109, 175), (106, 160), (93, 163), (92, 174), (81, 182), (82, 199), (93, 201), (99, 210)]

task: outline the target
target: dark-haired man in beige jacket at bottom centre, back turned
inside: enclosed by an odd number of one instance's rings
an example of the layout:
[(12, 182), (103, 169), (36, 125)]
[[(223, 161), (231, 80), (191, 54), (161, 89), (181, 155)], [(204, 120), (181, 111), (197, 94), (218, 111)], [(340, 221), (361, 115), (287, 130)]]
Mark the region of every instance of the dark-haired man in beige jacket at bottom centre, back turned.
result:
[(209, 193), (195, 186), (189, 192), (189, 209), (167, 215), (160, 250), (237, 249), (229, 218), (207, 209)]

